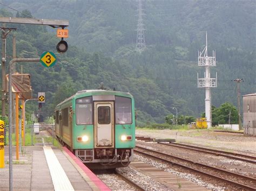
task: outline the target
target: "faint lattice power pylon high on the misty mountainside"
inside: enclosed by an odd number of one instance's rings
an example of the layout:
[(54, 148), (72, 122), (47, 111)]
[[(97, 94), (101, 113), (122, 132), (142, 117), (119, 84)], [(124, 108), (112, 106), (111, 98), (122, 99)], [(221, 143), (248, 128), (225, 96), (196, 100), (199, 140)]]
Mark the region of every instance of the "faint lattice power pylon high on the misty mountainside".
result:
[(139, 53), (141, 53), (145, 47), (145, 36), (144, 36), (144, 24), (143, 24), (143, 18), (142, 16), (145, 15), (143, 13), (143, 9), (142, 9), (142, 0), (138, 0), (139, 2), (139, 7), (138, 7), (138, 11), (139, 11), (139, 19), (138, 19), (138, 27), (137, 27), (137, 39), (136, 39), (136, 47), (135, 50)]

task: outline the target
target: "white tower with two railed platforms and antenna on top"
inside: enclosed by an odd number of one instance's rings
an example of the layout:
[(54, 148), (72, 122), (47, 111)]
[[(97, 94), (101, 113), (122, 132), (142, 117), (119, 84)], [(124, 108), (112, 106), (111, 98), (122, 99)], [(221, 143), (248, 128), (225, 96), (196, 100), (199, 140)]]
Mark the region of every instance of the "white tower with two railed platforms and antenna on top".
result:
[(198, 52), (198, 66), (205, 67), (205, 77), (198, 79), (198, 88), (205, 88), (205, 117), (207, 126), (212, 126), (212, 102), (211, 102), (211, 88), (217, 87), (217, 72), (216, 78), (211, 78), (210, 67), (216, 66), (216, 53), (212, 51), (212, 56), (207, 53), (207, 32), (206, 32), (206, 46), (203, 52)]

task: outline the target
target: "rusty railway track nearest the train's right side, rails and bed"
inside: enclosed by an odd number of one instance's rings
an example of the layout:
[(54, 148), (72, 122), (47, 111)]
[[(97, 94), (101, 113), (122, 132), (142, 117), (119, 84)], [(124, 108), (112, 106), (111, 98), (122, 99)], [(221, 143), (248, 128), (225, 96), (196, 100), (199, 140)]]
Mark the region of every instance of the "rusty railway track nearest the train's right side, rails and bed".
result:
[(208, 177), (214, 178), (215, 180), (221, 180), (222, 182), (228, 183), (229, 185), (235, 186), (237, 188), (246, 190), (256, 190), (256, 179), (251, 178), (249, 176), (244, 176), (230, 171), (225, 171), (224, 169), (199, 164), (196, 161), (150, 150), (145, 147), (136, 146), (134, 151), (152, 158), (159, 159), (161, 161), (165, 161), (172, 165), (177, 165), (179, 167), (186, 168), (192, 172), (197, 172), (206, 175)]

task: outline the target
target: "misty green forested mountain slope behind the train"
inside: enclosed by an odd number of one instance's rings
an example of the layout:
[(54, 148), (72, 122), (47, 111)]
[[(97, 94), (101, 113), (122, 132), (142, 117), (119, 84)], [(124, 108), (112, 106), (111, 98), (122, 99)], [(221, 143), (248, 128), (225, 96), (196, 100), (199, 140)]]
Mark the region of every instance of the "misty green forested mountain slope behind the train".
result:
[[(163, 122), (178, 108), (183, 115), (200, 116), (204, 111), (205, 90), (197, 88), (198, 50), (216, 50), (218, 87), (212, 88), (212, 104), (236, 105), (235, 82), (239, 77), (242, 95), (256, 92), (255, 1), (169, 0), (142, 1), (145, 15), (146, 49), (134, 51), (138, 23), (138, 2), (118, 0), (87, 1), (2, 1), (35, 18), (68, 19), (69, 50), (57, 54), (52, 68), (25, 64), (32, 86), (46, 91), (44, 109), (51, 109), (80, 89), (107, 88), (129, 91), (136, 99), (140, 121)], [(22, 15), (0, 6), (1, 15)], [(55, 51), (59, 39), (50, 27), (17, 27), (17, 54), (35, 57)], [(48, 31), (48, 32), (47, 32)], [(10, 34), (10, 38), (11, 39)], [(11, 40), (8, 44), (11, 55)], [(50, 114), (47, 114), (50, 115)]]

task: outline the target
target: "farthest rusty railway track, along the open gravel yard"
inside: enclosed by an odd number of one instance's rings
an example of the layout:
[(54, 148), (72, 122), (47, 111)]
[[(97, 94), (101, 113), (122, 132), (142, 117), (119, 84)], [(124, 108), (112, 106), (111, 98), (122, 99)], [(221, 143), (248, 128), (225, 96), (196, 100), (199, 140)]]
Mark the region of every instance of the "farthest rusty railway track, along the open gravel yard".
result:
[[(174, 147), (180, 147), (180, 148), (185, 148), (185, 149), (189, 149), (189, 150), (193, 150), (193, 151), (209, 153), (209, 154), (215, 154), (215, 155), (218, 155), (218, 156), (228, 157), (228, 158), (231, 158), (231, 159), (241, 160), (241, 161), (245, 161), (245, 162), (250, 162), (252, 164), (256, 164), (256, 157), (253, 157), (253, 156), (250, 156), (250, 155), (244, 155), (244, 154), (232, 153), (232, 152), (226, 152), (226, 151), (219, 151), (219, 150), (213, 150), (211, 148), (197, 147), (197, 146), (191, 146), (191, 145), (180, 144), (180, 143), (158, 143), (158, 144), (167, 145), (167, 146), (174, 146)], [(223, 154), (223, 153), (225, 153), (225, 154)], [(245, 158), (233, 157), (233, 156), (228, 155), (228, 154), (239, 156), (239, 157), (252, 158), (254, 160), (248, 160), (248, 159), (245, 159)]]

